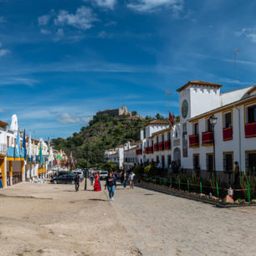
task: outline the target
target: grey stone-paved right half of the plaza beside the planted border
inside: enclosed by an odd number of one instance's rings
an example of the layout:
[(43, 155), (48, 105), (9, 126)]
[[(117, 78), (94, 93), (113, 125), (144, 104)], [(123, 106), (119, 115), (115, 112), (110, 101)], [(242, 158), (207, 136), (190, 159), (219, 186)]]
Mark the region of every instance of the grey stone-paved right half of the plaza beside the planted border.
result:
[(218, 208), (120, 186), (111, 204), (143, 255), (256, 254), (256, 207)]

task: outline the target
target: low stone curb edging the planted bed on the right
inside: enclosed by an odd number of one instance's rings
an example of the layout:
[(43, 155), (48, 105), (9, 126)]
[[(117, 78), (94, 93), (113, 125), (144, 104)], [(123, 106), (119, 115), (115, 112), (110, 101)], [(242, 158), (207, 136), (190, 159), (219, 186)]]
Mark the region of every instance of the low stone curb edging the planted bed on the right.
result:
[(141, 188), (148, 189), (148, 190), (152, 190), (152, 191), (156, 191), (156, 192), (161, 192), (161, 193), (164, 193), (164, 194), (172, 195), (172, 196), (175, 196), (175, 197), (183, 197), (183, 198), (186, 198), (186, 199), (189, 199), (189, 200), (193, 200), (193, 201), (197, 201), (197, 202), (204, 202), (204, 203), (207, 203), (207, 204), (212, 204), (212, 205), (214, 205), (216, 207), (222, 207), (222, 208), (253, 207), (253, 206), (256, 207), (256, 203), (225, 204), (223, 202), (214, 202), (212, 200), (209, 200), (209, 199), (206, 199), (206, 198), (202, 198), (202, 197), (193, 197), (191, 195), (185, 195), (185, 194), (180, 193), (180, 192), (169, 192), (169, 191), (161, 190), (159, 188), (146, 187), (145, 185), (139, 185), (139, 184), (137, 184), (137, 186), (141, 187)]

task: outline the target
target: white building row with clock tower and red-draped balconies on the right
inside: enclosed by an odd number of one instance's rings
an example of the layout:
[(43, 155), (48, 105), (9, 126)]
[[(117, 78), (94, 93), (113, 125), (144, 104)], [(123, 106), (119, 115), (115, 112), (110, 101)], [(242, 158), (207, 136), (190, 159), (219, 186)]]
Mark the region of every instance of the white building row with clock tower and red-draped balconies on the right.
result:
[[(218, 177), (233, 171), (235, 161), (241, 171), (256, 172), (256, 85), (224, 94), (221, 87), (190, 81), (178, 89), (180, 124), (170, 128), (165, 120), (153, 120), (146, 125), (141, 141), (136, 142), (135, 163), (126, 161), (134, 158), (134, 148), (123, 147), (125, 169), (151, 162), (168, 168), (175, 161), (186, 172), (200, 168), (207, 178), (214, 170), (215, 149)], [(214, 127), (209, 120), (212, 115), (217, 117)], [(112, 153), (120, 159), (120, 153)]]

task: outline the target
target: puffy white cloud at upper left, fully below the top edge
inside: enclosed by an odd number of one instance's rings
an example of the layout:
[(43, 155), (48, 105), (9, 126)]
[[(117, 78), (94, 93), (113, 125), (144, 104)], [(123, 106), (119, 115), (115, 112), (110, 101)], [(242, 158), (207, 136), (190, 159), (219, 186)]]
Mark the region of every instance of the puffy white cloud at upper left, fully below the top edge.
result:
[(54, 24), (59, 26), (72, 26), (79, 29), (89, 29), (93, 26), (95, 21), (99, 21), (95, 17), (95, 14), (90, 8), (81, 6), (76, 10), (76, 13), (69, 13), (67, 11), (61, 10), (57, 15), (57, 18), (54, 19)]

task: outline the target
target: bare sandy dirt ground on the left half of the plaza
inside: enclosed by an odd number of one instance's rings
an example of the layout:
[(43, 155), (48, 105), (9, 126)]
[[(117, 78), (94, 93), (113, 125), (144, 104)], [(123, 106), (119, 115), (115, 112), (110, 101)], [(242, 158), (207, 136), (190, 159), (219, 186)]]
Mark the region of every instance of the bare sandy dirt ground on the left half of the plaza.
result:
[(0, 191), (0, 248), (5, 256), (140, 254), (105, 192), (53, 184)]

